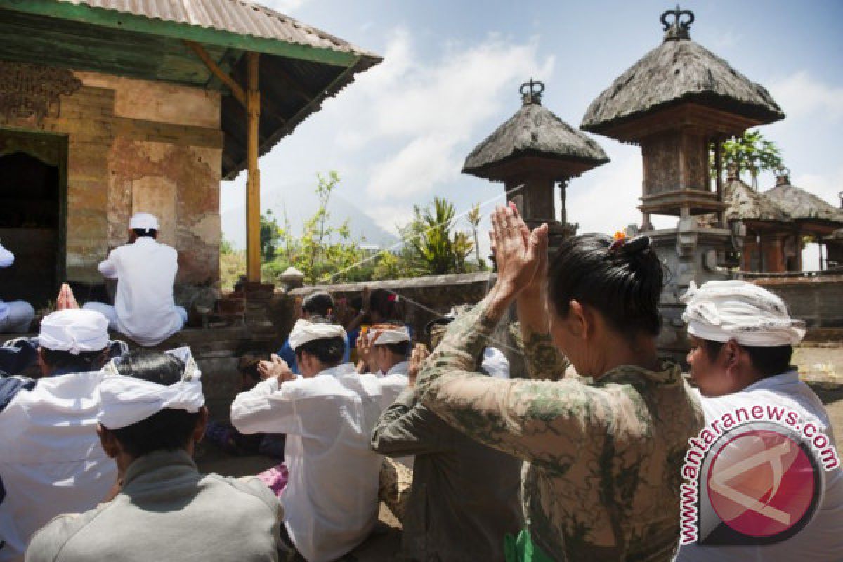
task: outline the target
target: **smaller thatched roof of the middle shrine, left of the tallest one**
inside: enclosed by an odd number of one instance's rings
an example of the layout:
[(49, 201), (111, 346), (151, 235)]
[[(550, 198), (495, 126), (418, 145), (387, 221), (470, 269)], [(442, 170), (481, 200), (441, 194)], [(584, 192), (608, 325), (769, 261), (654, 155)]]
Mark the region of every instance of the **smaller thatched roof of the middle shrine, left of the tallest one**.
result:
[(541, 105), (540, 92), (533, 92), (524, 94), (521, 109), (471, 151), (465, 158), (463, 173), (500, 179), (496, 169), (529, 156), (557, 163), (581, 163), (581, 171), (609, 162), (597, 142), (553, 115)]

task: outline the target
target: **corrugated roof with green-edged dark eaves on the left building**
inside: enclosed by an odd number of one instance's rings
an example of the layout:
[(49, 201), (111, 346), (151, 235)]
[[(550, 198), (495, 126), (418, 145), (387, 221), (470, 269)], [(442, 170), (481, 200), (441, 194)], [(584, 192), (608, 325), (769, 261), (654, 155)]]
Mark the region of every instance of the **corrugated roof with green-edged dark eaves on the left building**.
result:
[[(245, 54), (260, 53), (260, 154), (382, 60), (248, 0), (0, 0), (0, 59), (228, 94), (191, 44), (240, 85)], [(220, 117), (221, 171), (233, 179), (246, 165), (245, 110), (223, 95)]]

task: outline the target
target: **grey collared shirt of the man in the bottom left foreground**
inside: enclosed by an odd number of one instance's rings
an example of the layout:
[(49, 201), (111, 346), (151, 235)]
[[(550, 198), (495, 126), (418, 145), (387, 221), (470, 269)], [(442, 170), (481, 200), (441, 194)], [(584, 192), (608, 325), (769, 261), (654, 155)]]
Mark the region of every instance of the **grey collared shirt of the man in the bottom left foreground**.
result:
[(277, 560), (280, 521), (260, 480), (199, 474), (185, 451), (153, 452), (129, 466), (114, 500), (35, 533), (26, 560)]

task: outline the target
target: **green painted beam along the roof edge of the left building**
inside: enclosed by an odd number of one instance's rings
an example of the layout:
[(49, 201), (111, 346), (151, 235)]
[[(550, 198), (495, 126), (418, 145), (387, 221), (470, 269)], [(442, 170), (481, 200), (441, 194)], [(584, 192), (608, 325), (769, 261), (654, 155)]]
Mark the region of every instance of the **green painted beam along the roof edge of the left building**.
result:
[(349, 67), (357, 55), (332, 49), (298, 45), (287, 41), (239, 35), (222, 29), (203, 28), (178, 22), (148, 19), (132, 13), (122, 13), (103, 8), (90, 8), (84, 4), (56, 2), (55, 0), (0, 0), (0, 9), (31, 13), (53, 19), (96, 25), (108, 29), (127, 29), (137, 33), (158, 35), (178, 40), (191, 40), (206, 45), (217, 45), (255, 51), (268, 55), (286, 56), (302, 61), (321, 62), (338, 67)]

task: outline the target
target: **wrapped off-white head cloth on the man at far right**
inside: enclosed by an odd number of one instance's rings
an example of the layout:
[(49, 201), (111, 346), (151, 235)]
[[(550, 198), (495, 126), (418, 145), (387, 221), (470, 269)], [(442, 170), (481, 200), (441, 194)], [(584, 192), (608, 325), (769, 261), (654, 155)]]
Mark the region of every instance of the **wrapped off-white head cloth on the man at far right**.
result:
[(774, 347), (805, 336), (805, 323), (790, 317), (781, 298), (746, 281), (708, 281), (699, 289), (692, 281), (682, 302), (688, 333), (702, 340)]

